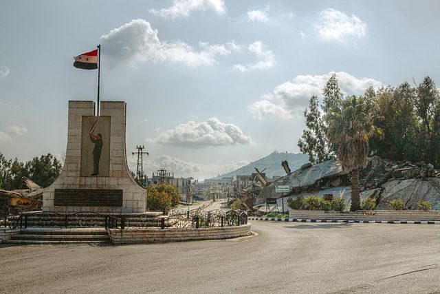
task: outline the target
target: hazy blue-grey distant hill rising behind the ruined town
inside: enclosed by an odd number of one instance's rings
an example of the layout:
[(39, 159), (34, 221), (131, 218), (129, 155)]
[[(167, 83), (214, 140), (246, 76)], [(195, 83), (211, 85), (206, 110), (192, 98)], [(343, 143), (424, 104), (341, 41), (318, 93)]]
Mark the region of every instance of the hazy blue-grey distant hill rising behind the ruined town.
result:
[(254, 162), (250, 162), (249, 165), (245, 165), (244, 167), (240, 167), (234, 171), (231, 171), (227, 174), (223, 174), (216, 178), (223, 177), (231, 177), (236, 175), (250, 175), (255, 172), (254, 167), (259, 169), (259, 171), (263, 171), (267, 177), (272, 178), (273, 176), (285, 176), (285, 171), (281, 166), (281, 162), (283, 160), (287, 160), (289, 162), (289, 167), (292, 171), (299, 169), (301, 165), (309, 162), (309, 156), (307, 154), (293, 154), (293, 153), (272, 153), (269, 156), (256, 160)]

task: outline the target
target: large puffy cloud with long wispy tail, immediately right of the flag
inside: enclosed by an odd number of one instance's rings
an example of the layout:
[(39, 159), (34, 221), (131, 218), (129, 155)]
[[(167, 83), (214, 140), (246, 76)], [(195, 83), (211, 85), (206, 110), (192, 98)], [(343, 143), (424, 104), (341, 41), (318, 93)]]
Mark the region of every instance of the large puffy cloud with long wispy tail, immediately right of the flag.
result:
[(161, 41), (158, 31), (144, 19), (133, 19), (119, 28), (115, 28), (100, 37), (100, 42), (114, 63), (124, 61), (153, 61), (182, 63), (190, 67), (217, 64), (218, 56), (225, 56), (240, 50), (234, 41), (217, 45), (199, 43), (195, 50), (187, 43)]

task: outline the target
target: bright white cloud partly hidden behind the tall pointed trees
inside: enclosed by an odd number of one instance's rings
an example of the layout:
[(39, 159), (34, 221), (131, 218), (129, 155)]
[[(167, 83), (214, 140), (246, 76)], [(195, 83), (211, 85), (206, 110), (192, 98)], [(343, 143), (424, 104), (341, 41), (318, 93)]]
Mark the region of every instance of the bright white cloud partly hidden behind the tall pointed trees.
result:
[[(316, 76), (298, 75), (292, 81), (276, 86), (271, 94), (264, 95), (260, 101), (250, 105), (248, 111), (256, 119), (265, 116), (289, 119), (302, 115), (310, 97), (322, 94), (331, 74), (333, 72)], [(374, 78), (356, 78), (347, 72), (336, 72), (336, 77), (344, 94), (363, 94), (367, 87), (377, 88), (382, 85)]]

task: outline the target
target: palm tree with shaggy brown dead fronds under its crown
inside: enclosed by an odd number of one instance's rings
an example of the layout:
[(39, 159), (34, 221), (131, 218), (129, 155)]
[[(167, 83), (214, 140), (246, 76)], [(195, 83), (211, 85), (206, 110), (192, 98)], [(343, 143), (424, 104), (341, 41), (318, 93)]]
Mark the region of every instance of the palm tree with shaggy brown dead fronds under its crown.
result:
[(369, 139), (383, 136), (373, 125), (377, 116), (375, 101), (368, 97), (351, 96), (335, 103), (325, 115), (329, 126), (327, 137), (336, 145), (336, 156), (344, 171), (351, 174), (351, 211), (360, 209), (360, 170), (366, 167)]

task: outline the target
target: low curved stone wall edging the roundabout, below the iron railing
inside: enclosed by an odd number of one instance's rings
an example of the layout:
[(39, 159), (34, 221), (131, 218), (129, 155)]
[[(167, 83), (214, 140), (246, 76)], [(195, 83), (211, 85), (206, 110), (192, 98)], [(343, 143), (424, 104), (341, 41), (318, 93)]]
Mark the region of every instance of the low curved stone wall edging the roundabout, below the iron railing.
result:
[(109, 229), (114, 244), (177, 242), (189, 240), (227, 239), (250, 235), (250, 224), (236, 227), (184, 229)]

